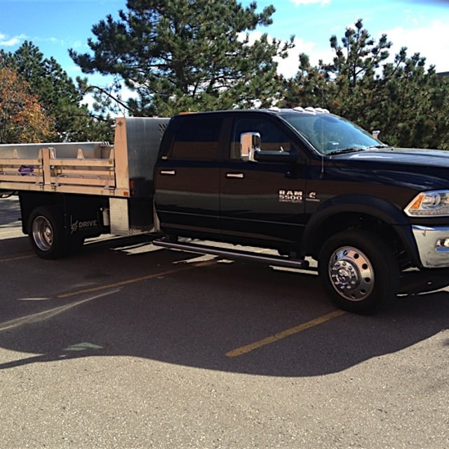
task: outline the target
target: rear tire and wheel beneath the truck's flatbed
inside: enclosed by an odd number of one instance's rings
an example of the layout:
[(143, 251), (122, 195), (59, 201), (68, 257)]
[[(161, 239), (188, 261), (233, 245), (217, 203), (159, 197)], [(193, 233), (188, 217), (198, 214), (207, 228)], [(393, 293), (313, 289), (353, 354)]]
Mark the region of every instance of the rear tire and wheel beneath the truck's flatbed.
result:
[(42, 259), (57, 259), (67, 253), (62, 214), (57, 208), (42, 206), (29, 215), (28, 237)]

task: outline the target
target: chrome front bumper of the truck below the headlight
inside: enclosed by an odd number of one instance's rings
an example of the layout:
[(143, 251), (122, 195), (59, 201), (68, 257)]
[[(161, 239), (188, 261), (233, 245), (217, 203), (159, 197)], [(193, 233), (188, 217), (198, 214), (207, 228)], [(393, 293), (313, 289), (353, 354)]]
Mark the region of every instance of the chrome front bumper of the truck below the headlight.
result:
[(449, 267), (449, 227), (415, 225), (412, 231), (424, 268)]

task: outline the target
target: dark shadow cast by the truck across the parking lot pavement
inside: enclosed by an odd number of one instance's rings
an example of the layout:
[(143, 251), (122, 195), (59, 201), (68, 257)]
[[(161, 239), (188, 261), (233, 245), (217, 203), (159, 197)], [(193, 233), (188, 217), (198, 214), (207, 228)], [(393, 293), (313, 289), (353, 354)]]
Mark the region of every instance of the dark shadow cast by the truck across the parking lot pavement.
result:
[[(2, 254), (12, 247), (0, 241)], [(60, 261), (30, 253), (2, 271), (0, 346), (14, 351), (0, 363), (3, 370), (131, 356), (253, 375), (325, 375), (448, 327), (449, 293), (441, 288), (449, 278), (441, 273), (421, 283), (410, 279), (408, 287), (404, 282), (403, 295), (373, 316), (343, 313), (319, 323), (336, 309), (317, 276), (149, 243), (104, 241)], [(30, 274), (26, 282), (23, 273)], [(255, 347), (235, 355), (248, 344)]]

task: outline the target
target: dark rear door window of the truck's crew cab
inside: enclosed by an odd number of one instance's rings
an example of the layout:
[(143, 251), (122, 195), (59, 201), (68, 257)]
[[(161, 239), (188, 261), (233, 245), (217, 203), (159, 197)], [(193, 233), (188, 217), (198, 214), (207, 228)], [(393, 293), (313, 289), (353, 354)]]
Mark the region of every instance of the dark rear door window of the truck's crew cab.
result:
[(217, 159), (222, 119), (189, 117), (181, 119), (170, 157), (173, 159)]

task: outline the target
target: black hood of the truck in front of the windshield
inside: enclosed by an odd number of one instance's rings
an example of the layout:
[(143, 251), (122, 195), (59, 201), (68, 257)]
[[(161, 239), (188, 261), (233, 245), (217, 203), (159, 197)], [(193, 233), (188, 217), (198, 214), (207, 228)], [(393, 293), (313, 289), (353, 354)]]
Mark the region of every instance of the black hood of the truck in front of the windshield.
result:
[(336, 168), (382, 182), (415, 185), (421, 189), (449, 189), (449, 152), (420, 148), (373, 148), (335, 154), (330, 161)]

